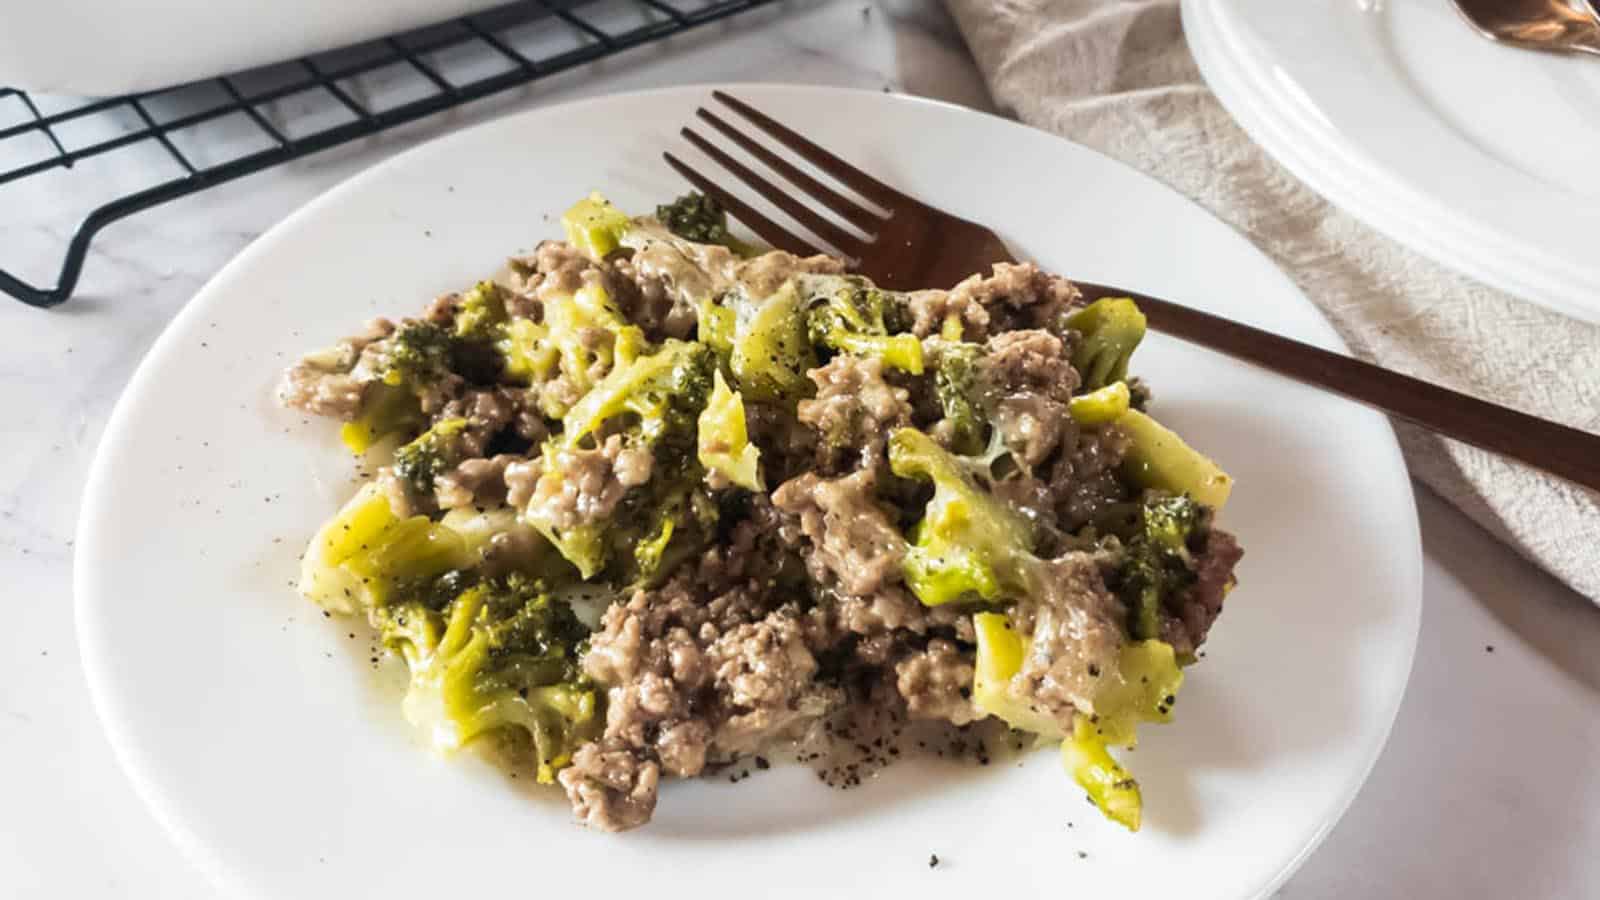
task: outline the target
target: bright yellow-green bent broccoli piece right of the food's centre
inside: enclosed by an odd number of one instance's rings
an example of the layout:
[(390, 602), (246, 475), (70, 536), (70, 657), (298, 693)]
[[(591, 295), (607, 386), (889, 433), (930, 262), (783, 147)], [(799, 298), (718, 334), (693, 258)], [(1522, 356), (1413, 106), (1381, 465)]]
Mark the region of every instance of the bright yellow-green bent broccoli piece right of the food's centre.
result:
[(933, 482), (933, 498), (912, 528), (906, 585), (925, 605), (994, 601), (1029, 589), (1032, 528), (982, 490), (962, 463), (915, 428), (890, 437), (890, 468), (902, 479)]

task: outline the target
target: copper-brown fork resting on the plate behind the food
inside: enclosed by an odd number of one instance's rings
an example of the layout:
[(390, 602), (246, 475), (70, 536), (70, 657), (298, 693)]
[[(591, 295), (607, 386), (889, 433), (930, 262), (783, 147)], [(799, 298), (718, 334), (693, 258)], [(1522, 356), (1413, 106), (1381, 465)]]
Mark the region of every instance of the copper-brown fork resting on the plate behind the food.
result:
[[(762, 141), (734, 127), (728, 119), (706, 107), (696, 110), (706, 125), (760, 160), (789, 186), (779, 187), (766, 175), (728, 155), (693, 128), (682, 131), (690, 144), (826, 242), (827, 248), (845, 258), (853, 271), (870, 277), (878, 285), (893, 290), (947, 288), (995, 263), (1016, 261), (1005, 242), (987, 227), (936, 210), (883, 184), (723, 91), (712, 91), (712, 96), (771, 141), (883, 210), (882, 213), (870, 210), (845, 192), (813, 178)], [(798, 255), (824, 251), (771, 221), (670, 152), (662, 155), (678, 175), (702, 194), (720, 202), (733, 218), (749, 226), (773, 247)], [(814, 207), (824, 207), (866, 237), (853, 234)], [(1600, 490), (1600, 437), (1594, 434), (1498, 407), (1387, 368), (1139, 291), (1091, 282), (1075, 283), (1090, 299), (1101, 296), (1133, 298), (1149, 317), (1150, 327), (1168, 335), (1333, 391), (1445, 437), (1509, 456), (1590, 490)]]

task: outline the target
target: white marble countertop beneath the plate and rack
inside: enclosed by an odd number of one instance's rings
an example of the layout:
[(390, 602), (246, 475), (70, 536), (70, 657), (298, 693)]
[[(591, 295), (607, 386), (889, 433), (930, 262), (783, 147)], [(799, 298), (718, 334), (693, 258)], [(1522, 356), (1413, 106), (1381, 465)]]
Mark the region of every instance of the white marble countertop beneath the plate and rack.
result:
[[(72, 628), (72, 533), (106, 418), (146, 348), (234, 253), (421, 139), (555, 99), (790, 80), (987, 107), (933, 0), (800, 2), (134, 216), (53, 312), (0, 298), (0, 895), (213, 897), (117, 769)], [(152, 160), (150, 165), (157, 165)], [(0, 187), (0, 266), (50, 282), (72, 213), (115, 173)], [(1600, 892), (1600, 610), (1421, 490), (1422, 639), (1387, 749), (1283, 897)], [(160, 649), (152, 649), (160, 652)]]

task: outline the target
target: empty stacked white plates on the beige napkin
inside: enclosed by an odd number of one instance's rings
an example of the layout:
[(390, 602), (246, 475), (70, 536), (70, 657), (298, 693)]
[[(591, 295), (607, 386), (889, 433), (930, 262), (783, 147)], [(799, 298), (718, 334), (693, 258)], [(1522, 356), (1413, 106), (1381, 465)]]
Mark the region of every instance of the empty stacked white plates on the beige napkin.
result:
[(1285, 168), (1445, 266), (1600, 322), (1600, 62), (1448, 0), (1184, 0), (1206, 83)]

